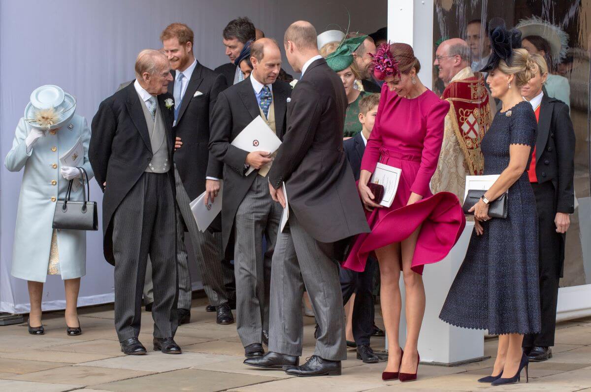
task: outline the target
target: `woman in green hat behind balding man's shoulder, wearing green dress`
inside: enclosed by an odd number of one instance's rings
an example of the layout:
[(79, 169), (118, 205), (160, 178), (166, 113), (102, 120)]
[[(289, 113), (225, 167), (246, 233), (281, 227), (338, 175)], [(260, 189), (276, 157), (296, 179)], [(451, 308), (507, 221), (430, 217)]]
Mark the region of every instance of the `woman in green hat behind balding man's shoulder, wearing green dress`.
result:
[(345, 93), (347, 94), (347, 112), (345, 115), (345, 128), (343, 129), (343, 138), (348, 139), (361, 132), (361, 122), (359, 122), (359, 102), (366, 94), (365, 91), (355, 89), (355, 80), (361, 79), (359, 72), (353, 62), (353, 52), (367, 38), (367, 35), (361, 37), (349, 38), (341, 43), (328, 43), (320, 49), (320, 54), (326, 59), (330, 68), (339, 74), (343, 81)]

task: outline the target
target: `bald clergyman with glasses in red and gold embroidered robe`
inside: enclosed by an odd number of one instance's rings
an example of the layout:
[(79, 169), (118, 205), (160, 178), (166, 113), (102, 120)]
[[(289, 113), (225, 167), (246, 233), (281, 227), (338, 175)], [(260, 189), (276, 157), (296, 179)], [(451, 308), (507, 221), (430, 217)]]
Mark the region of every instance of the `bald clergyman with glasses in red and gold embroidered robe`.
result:
[(480, 142), (491, 126), (495, 112), (481, 73), (470, 69), (470, 49), (466, 41), (452, 38), (437, 47), (435, 62), (439, 78), (446, 86), (442, 99), (450, 103), (445, 117), (443, 145), (431, 190), (452, 192), (464, 199), (466, 176), (483, 173), (484, 157)]

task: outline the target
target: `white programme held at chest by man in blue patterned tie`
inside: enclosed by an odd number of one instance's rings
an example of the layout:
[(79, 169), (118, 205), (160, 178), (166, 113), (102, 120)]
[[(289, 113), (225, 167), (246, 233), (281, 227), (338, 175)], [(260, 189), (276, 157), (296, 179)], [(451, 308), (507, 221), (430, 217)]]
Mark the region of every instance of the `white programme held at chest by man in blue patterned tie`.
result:
[[(269, 154), (272, 154), (281, 145), (281, 140), (261, 116), (256, 116), (230, 144), (249, 153), (253, 151), (269, 151)], [(249, 167), (245, 175), (248, 176), (254, 170), (254, 167)]]

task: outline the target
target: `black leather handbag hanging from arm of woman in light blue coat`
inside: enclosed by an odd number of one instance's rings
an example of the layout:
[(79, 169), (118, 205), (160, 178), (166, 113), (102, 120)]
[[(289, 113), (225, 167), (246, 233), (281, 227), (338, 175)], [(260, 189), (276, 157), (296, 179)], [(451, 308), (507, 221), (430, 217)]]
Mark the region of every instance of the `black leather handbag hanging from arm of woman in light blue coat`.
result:
[[(70, 193), (72, 193), (72, 182), (68, 184), (66, 192), (66, 199), (57, 200), (56, 212), (53, 215), (54, 229), (67, 230), (98, 230), (99, 219), (96, 212), (96, 202), (90, 201), (90, 184), (88, 183), (88, 174), (82, 167), (77, 168), (82, 177), (82, 193), (83, 200), (70, 200)], [(86, 182), (86, 189), (84, 183)], [(88, 195), (88, 200), (86, 200)]]

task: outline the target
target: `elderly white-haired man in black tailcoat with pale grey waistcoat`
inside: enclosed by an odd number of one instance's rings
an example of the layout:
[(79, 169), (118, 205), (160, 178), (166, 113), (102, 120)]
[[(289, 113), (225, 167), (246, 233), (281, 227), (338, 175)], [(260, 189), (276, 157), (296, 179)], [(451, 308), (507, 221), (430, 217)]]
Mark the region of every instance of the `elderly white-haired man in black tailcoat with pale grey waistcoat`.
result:
[(121, 351), (145, 354), (139, 342), (148, 254), (154, 280), (154, 349), (180, 354), (177, 319), (173, 80), (167, 57), (142, 50), (134, 83), (100, 103), (89, 160), (103, 196), (103, 248), (115, 265), (115, 329)]

